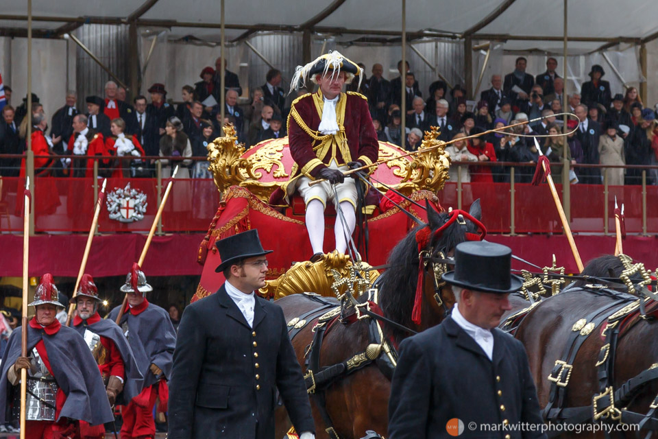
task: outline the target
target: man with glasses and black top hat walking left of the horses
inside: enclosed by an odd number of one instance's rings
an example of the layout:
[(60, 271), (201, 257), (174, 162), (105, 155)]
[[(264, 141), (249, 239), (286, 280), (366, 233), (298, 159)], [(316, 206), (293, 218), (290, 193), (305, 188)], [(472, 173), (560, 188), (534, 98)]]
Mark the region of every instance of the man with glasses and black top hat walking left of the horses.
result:
[(301, 439), (315, 427), (282, 309), (258, 297), (266, 254), (257, 230), (217, 242), (226, 282), (186, 307), (169, 381), (169, 438), (274, 437), (278, 390)]

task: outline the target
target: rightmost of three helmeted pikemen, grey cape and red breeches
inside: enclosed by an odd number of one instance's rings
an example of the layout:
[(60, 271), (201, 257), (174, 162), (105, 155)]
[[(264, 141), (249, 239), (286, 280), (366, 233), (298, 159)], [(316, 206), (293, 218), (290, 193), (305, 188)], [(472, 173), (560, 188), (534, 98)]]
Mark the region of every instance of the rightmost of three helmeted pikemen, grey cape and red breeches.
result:
[[(127, 294), (127, 304), (119, 324), (135, 355), (139, 371), (144, 377), (141, 393), (135, 396), (121, 413), (121, 438), (153, 438), (156, 424), (153, 407), (160, 396), (160, 410), (167, 405), (167, 381), (171, 373), (176, 333), (164, 309), (146, 300), (145, 293), (153, 291), (146, 276), (134, 263), (125, 278), (121, 292)], [(121, 306), (112, 309), (108, 319), (116, 321)]]

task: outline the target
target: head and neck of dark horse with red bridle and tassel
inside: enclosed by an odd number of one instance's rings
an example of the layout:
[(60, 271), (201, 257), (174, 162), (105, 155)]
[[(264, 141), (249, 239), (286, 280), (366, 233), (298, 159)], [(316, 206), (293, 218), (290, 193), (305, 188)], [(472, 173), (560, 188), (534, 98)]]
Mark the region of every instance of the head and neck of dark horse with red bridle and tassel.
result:
[[(441, 274), (451, 269), (448, 258), (456, 245), (486, 234), (479, 200), (468, 212), (448, 213), (435, 211), (428, 202), (427, 217), (426, 226), (414, 228), (393, 248), (389, 268), (378, 282), (387, 317), (416, 331), (439, 324), (454, 305), (452, 288), (441, 281)], [(397, 340), (409, 335), (397, 329), (391, 333)]]

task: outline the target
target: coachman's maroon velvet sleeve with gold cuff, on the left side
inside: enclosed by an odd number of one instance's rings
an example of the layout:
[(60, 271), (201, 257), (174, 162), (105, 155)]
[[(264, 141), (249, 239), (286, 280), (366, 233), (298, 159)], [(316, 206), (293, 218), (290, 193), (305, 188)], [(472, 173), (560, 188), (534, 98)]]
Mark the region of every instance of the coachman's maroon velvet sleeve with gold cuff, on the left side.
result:
[(313, 143), (311, 137), (306, 134), (302, 127), (297, 123), (293, 112), (297, 111), (302, 121), (306, 123), (308, 128), (313, 126), (313, 113), (317, 115), (315, 106), (313, 104), (313, 96), (308, 95), (300, 98), (297, 102), (293, 102), (291, 108), (291, 115), (288, 118), (288, 141), (290, 145), (290, 154), (293, 157), (297, 166), (300, 167), (302, 174), (309, 178), (316, 178), (318, 172), (324, 169), (326, 165), (317, 158), (313, 151)]

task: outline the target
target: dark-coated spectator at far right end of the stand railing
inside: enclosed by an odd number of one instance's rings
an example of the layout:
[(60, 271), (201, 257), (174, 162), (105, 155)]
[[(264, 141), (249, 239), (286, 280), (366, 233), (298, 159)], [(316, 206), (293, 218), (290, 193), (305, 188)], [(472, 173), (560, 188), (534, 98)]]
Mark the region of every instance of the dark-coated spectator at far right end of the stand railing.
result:
[[(655, 137), (655, 113), (651, 108), (642, 110), (642, 118), (633, 128), (631, 141), (625, 151), (626, 165), (650, 165), (654, 154), (652, 144)], [(647, 172), (647, 178), (650, 174)], [(642, 169), (626, 169), (626, 185), (641, 185)], [(648, 182), (651, 184), (651, 182)]]

